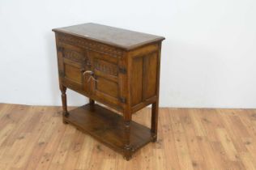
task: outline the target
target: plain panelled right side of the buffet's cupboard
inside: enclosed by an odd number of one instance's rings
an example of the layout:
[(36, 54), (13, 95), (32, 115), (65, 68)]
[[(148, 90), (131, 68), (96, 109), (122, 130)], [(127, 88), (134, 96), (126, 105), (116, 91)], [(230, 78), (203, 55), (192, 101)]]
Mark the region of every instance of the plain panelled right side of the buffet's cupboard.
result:
[(132, 112), (157, 99), (157, 68), (160, 45), (147, 45), (129, 53), (131, 60), (130, 100)]

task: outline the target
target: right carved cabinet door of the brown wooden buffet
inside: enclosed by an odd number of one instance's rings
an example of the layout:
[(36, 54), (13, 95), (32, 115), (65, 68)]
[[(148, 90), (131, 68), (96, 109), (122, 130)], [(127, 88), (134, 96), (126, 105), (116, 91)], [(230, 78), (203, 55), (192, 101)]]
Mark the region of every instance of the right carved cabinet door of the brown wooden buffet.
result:
[(120, 87), (118, 77), (118, 58), (109, 55), (88, 51), (92, 59), (93, 95), (109, 104), (120, 103)]

